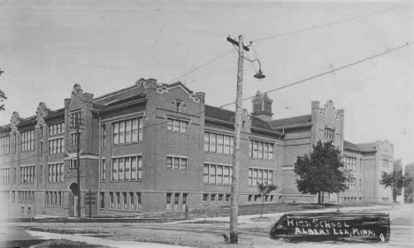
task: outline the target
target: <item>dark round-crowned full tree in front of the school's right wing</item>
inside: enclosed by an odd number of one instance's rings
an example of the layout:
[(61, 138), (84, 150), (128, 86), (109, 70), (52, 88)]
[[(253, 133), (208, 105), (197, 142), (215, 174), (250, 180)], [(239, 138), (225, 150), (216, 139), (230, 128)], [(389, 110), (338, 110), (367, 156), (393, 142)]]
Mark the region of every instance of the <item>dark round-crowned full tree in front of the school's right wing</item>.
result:
[(295, 164), (297, 189), (302, 193), (318, 194), (318, 204), (322, 203), (322, 193), (338, 193), (346, 189), (347, 178), (341, 170), (341, 151), (332, 141), (318, 141), (311, 154), (298, 156)]

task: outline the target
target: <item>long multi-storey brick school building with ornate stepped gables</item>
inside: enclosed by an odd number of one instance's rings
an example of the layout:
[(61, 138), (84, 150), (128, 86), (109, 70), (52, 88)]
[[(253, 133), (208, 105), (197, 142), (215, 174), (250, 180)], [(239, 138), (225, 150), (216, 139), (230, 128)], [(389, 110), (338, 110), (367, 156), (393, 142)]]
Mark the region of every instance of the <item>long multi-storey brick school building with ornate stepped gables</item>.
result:
[[(280, 186), (265, 202), (315, 202), (316, 196), (297, 192), (294, 165), (318, 140), (332, 140), (355, 174), (341, 201), (392, 200), (377, 181), (381, 169), (392, 168), (393, 146), (344, 141), (344, 111), (332, 101), (322, 107), (313, 101), (311, 115), (286, 119), (272, 118), (266, 94), (257, 93), (252, 103), (253, 112), (242, 113), (241, 204), (260, 201), (257, 182)], [(74, 216), (79, 197), (82, 215), (228, 205), (233, 149), (234, 112), (206, 105), (205, 94), (180, 82), (139, 79), (100, 97), (75, 85), (65, 108), (41, 102), (35, 116), (14, 112), (0, 127), (2, 214)]]

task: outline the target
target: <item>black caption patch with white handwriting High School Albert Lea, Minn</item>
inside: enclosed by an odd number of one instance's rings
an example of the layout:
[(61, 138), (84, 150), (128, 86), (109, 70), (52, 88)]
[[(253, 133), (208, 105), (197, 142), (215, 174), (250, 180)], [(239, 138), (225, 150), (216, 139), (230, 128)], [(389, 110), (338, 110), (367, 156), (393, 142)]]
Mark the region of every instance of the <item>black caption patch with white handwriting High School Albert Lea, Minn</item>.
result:
[(388, 242), (389, 215), (380, 213), (292, 213), (272, 225), (272, 238), (290, 241)]

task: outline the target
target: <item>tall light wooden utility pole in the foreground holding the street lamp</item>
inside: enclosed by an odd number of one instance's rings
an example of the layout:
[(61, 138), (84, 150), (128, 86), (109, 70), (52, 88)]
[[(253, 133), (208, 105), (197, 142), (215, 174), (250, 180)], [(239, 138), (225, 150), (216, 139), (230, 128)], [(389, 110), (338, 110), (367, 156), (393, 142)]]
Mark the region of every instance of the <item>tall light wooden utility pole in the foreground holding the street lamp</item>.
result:
[(240, 163), (240, 134), (242, 123), (242, 93), (243, 93), (243, 49), (249, 50), (243, 46), (243, 36), (239, 36), (239, 42), (234, 41), (230, 37), (227, 41), (239, 46), (239, 59), (237, 69), (237, 94), (236, 109), (234, 120), (234, 153), (233, 153), (233, 177), (232, 191), (230, 201), (230, 238), (231, 244), (238, 243), (238, 215), (239, 215), (239, 163)]

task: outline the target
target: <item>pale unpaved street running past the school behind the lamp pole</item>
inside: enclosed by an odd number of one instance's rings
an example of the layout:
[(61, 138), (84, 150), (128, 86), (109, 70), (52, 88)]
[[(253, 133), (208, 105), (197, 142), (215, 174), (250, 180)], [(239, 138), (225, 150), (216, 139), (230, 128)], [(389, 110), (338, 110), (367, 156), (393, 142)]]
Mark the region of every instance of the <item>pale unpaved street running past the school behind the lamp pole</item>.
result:
[[(356, 210), (359, 212), (369, 211), (390, 214), (390, 242), (388, 244), (380, 244), (381, 247), (412, 247), (414, 242), (414, 217), (412, 214), (414, 212), (414, 205), (382, 207), (382, 210), (380, 208), (369, 207), (342, 209), (342, 211)], [(332, 242), (292, 244), (282, 240), (272, 240), (269, 237), (270, 226), (281, 215), (265, 214), (265, 218), (259, 218), (258, 215), (241, 216), (239, 221), (240, 237), (238, 245), (226, 244), (222, 237), (222, 234), (228, 232), (228, 217), (166, 223), (13, 223), (9, 230), (24, 232), (24, 229), (41, 229), (60, 233), (78, 233), (76, 234), (78, 237), (82, 235), (83, 237), (93, 236), (113, 241), (155, 242), (193, 247), (330, 247), (344, 245), (341, 243), (334, 244)], [(347, 247), (373, 247), (379, 244), (346, 245)]]

